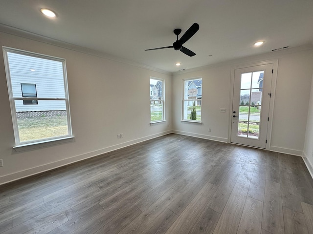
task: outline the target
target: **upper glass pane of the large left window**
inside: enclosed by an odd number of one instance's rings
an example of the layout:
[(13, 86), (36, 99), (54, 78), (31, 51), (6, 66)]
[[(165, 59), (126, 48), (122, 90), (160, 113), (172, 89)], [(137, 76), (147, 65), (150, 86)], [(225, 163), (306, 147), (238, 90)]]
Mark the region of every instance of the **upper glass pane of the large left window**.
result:
[(11, 52), (7, 55), (14, 97), (22, 97), (21, 83), (31, 82), (38, 98), (65, 98), (63, 62)]

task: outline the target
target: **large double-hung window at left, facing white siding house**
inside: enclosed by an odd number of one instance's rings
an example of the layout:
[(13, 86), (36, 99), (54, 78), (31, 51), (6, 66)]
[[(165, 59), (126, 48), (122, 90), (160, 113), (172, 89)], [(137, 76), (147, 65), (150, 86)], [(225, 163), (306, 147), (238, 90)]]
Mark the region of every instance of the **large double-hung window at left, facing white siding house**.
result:
[(3, 47), (16, 146), (72, 137), (65, 59)]

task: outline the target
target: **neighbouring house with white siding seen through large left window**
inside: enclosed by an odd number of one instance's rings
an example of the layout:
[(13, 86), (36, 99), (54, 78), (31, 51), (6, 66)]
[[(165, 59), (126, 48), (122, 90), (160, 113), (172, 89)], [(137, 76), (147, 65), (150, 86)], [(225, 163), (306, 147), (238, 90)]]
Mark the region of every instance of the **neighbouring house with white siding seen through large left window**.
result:
[[(60, 61), (8, 53), (14, 97), (65, 98)], [(16, 112), (66, 110), (64, 100), (16, 100)]]

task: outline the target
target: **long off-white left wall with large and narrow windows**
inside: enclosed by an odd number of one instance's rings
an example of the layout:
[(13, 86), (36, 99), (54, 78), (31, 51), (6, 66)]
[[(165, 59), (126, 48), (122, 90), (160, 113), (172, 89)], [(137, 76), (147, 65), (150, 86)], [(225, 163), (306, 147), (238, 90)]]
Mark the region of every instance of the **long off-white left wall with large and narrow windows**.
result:
[[(16, 152), (0, 56), (0, 184), (171, 132), (171, 75), (0, 32), (0, 45), (66, 59), (74, 139)], [(166, 85), (166, 122), (150, 125), (150, 77)], [(123, 133), (124, 138), (117, 139)]]

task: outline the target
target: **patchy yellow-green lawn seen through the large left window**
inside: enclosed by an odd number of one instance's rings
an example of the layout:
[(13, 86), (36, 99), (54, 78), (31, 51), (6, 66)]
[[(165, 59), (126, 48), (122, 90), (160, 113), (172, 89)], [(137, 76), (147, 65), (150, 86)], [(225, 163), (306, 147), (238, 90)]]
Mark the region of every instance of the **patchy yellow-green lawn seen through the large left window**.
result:
[(34, 117), (18, 119), (20, 141), (66, 136), (67, 117)]

